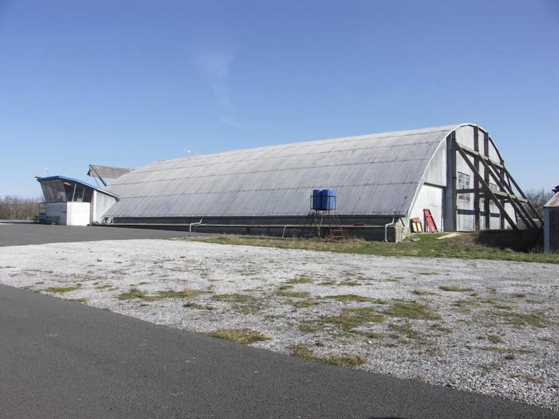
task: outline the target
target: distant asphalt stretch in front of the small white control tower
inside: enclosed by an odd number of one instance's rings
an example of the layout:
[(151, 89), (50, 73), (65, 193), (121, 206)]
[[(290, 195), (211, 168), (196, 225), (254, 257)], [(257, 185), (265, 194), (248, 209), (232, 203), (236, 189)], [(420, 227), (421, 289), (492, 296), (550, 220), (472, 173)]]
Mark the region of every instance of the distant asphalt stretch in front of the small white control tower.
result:
[(92, 242), (96, 240), (159, 239), (200, 235), (186, 231), (147, 228), (50, 226), (34, 223), (0, 223), (0, 247), (24, 244)]

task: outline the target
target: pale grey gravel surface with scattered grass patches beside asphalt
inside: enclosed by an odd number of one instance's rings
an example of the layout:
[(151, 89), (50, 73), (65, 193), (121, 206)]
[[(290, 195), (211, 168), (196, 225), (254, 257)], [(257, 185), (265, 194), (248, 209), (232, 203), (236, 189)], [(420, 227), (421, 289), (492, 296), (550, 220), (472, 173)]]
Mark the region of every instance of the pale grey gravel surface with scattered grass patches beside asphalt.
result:
[[(355, 355), (368, 371), (554, 410), (557, 272), (180, 240), (0, 249), (3, 284), (173, 328), (250, 329), (268, 337), (252, 346)], [(180, 298), (161, 294), (185, 289)]]

